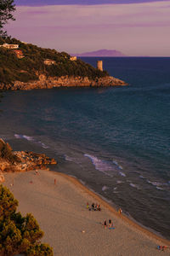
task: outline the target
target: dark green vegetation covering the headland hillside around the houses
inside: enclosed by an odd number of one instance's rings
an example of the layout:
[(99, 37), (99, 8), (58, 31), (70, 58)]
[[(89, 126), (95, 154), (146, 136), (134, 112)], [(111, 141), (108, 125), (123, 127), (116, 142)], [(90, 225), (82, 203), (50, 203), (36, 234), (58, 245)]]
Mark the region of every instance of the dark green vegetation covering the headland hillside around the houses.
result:
[[(71, 61), (70, 55), (59, 53), (55, 49), (43, 49), (33, 44), (24, 44), (15, 38), (0, 38), (0, 44), (19, 44), (25, 55), (18, 59), (13, 49), (0, 47), (0, 83), (8, 84), (15, 80), (28, 82), (38, 79), (40, 74), (47, 77), (80, 76), (89, 79), (101, 78), (108, 73), (101, 72), (89, 64), (77, 60)], [(56, 61), (55, 65), (45, 65), (44, 59)]]

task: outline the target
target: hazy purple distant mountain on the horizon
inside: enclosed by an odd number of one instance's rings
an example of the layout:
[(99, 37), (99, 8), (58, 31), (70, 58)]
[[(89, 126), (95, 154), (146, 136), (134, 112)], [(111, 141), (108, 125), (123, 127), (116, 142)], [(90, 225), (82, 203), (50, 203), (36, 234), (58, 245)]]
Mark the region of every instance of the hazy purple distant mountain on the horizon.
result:
[(125, 57), (121, 51), (116, 49), (99, 49), (95, 51), (83, 52), (81, 54), (72, 54), (77, 57)]

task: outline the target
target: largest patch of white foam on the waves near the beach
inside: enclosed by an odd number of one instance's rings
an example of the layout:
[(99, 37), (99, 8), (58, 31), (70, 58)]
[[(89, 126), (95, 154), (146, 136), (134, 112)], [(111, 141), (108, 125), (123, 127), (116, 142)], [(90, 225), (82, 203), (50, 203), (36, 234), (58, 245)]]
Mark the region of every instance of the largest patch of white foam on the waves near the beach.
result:
[(105, 175), (108, 175), (111, 177), (111, 175), (107, 173), (108, 171), (113, 171), (113, 167), (109, 163), (105, 162), (105, 160), (100, 160), (94, 155), (84, 154), (84, 156), (88, 157), (92, 161), (96, 170), (100, 172), (104, 172)]

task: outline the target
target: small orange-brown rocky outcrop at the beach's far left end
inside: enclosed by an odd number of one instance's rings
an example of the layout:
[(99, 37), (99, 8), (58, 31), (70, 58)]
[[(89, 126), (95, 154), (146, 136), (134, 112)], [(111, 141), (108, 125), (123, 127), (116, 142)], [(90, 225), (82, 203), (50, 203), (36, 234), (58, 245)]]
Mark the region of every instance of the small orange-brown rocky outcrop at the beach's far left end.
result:
[(0, 139), (0, 183), (4, 181), (3, 172), (26, 172), (47, 169), (57, 162), (45, 154), (27, 151), (13, 151), (8, 143)]

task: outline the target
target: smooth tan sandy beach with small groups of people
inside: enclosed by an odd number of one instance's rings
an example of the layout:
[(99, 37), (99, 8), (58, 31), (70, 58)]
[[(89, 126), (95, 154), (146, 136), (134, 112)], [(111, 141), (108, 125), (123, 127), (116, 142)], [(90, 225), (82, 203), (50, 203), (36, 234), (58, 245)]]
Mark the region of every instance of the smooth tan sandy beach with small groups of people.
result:
[[(157, 245), (170, 246), (170, 241), (121, 216), (77, 179), (57, 172), (38, 173), (8, 173), (4, 185), (19, 201), (18, 210), (37, 218), (45, 232), (42, 242), (54, 248), (54, 256), (170, 255), (170, 249), (157, 249)], [(10, 186), (13, 181), (14, 186)], [(102, 211), (88, 211), (87, 202), (98, 202)], [(109, 218), (115, 230), (102, 225)]]

